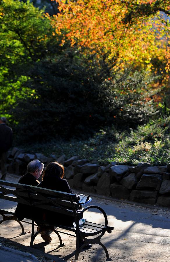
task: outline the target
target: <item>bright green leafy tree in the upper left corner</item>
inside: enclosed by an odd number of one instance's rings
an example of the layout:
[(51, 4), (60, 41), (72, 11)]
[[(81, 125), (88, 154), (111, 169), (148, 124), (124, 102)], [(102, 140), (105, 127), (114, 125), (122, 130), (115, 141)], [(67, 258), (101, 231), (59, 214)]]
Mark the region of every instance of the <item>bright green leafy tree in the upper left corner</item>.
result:
[[(27, 81), (34, 64), (61, 52), (49, 20), (43, 10), (35, 8), (29, 1), (3, 0), (0, 6), (0, 57), (1, 94), (0, 114), (18, 123), (13, 111), (20, 100), (25, 102), (34, 94)], [(20, 108), (22, 111), (23, 108)]]

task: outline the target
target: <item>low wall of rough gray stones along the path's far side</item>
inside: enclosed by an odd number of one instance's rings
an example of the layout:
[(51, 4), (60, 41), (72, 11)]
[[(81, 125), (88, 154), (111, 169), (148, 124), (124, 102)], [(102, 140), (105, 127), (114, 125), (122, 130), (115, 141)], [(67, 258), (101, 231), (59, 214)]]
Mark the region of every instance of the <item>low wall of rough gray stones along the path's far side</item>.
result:
[(27, 164), (33, 159), (39, 159), (45, 165), (54, 160), (62, 163), (65, 179), (76, 190), (170, 207), (170, 164), (152, 167), (141, 162), (134, 167), (111, 162), (99, 166), (78, 156), (65, 160), (62, 155), (56, 159), (55, 155), (28, 154), (13, 148), (8, 156), (8, 173), (25, 174)]

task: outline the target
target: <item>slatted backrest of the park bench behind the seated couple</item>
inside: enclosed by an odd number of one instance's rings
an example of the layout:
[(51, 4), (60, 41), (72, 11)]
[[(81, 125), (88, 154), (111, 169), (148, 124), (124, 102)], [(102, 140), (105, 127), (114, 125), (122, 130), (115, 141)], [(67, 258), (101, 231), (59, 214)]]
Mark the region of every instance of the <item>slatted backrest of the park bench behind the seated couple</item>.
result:
[(75, 194), (0, 180), (0, 199), (53, 212), (82, 217)]

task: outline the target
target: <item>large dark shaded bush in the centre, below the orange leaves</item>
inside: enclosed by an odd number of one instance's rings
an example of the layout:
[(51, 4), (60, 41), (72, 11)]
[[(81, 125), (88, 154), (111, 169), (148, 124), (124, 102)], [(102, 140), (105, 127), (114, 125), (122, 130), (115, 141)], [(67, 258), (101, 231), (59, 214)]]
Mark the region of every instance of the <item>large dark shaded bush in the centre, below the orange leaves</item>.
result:
[(150, 90), (155, 79), (144, 73), (126, 70), (109, 78), (112, 73), (103, 61), (93, 56), (91, 62), (77, 49), (67, 48), (53, 59), (42, 59), (29, 71), (27, 86), (32, 95), (26, 101), (20, 99), (13, 110), (15, 117), (20, 112), (20, 136), (84, 138), (115, 122), (131, 127), (145, 123), (158, 111), (152, 100), (145, 100), (157, 89)]

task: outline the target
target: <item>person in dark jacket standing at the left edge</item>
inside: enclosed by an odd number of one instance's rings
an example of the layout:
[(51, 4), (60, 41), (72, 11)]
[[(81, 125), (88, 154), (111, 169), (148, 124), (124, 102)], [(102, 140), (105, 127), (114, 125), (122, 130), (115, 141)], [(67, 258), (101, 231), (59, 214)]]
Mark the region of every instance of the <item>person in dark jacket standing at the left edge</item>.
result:
[(12, 146), (13, 142), (13, 130), (6, 125), (6, 118), (0, 118), (0, 160), (1, 160), (1, 179), (5, 180), (7, 174), (7, 155), (8, 150)]

